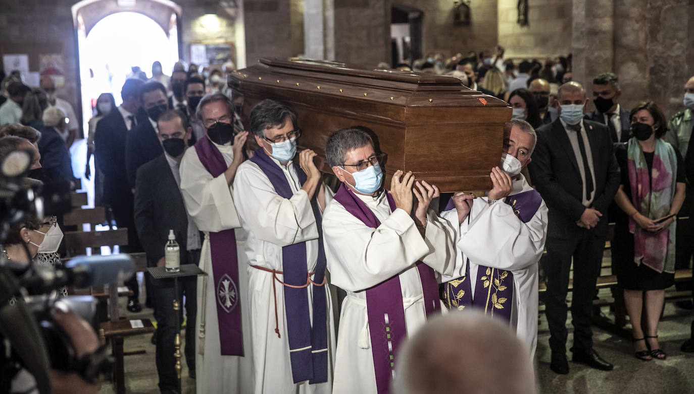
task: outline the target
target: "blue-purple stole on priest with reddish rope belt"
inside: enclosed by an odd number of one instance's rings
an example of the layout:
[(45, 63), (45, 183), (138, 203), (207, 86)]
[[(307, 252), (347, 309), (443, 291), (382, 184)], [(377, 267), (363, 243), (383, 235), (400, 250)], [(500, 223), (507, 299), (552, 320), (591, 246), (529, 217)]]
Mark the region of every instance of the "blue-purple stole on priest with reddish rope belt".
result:
[[(277, 163), (272, 161), (264, 150), (259, 148), (250, 159), (272, 183), (280, 197), (291, 198), (294, 192)], [(299, 183), (303, 185), (306, 174), (294, 163)], [(317, 193), (316, 193), (317, 194)], [(309, 381), (309, 384), (328, 382), (328, 305), (325, 288), (315, 283), (323, 283), (325, 276), (325, 251), (323, 250), (323, 226), (321, 212), (316, 197), (311, 200), (316, 226), (318, 226), (318, 260), (312, 284), (313, 325), (308, 308), (308, 273), (306, 262), (306, 242), (282, 247), (282, 276), (287, 285), (285, 289), (285, 310), (287, 313), (287, 337), (289, 339), (289, 359), (294, 383)], [(272, 280), (276, 280), (273, 276)]]

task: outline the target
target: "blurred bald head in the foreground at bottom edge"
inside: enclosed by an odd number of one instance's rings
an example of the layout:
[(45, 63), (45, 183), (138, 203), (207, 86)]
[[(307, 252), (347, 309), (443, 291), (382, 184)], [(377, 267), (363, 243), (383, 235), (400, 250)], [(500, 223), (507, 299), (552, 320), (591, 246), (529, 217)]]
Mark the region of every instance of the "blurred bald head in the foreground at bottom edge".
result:
[(398, 360), (398, 394), (535, 392), (530, 353), (508, 324), (479, 312), (430, 319), (400, 349)]

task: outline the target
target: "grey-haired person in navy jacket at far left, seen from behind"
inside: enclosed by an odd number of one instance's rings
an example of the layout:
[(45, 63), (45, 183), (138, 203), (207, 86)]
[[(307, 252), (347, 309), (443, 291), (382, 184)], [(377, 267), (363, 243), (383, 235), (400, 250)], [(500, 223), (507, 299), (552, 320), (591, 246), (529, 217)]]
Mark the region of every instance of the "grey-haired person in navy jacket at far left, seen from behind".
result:
[(44, 174), (52, 181), (69, 183), (72, 190), (75, 186), (75, 177), (72, 173), (70, 153), (60, 136), (67, 129), (65, 112), (59, 107), (48, 107), (43, 113), (42, 120), (44, 128), (41, 129), (38, 145)]

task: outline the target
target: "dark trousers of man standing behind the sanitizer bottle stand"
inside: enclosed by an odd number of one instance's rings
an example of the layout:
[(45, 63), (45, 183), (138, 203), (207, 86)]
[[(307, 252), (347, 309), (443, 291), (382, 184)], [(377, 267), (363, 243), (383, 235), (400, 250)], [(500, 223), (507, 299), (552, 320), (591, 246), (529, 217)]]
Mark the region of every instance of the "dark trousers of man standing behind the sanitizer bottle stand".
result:
[[(188, 251), (188, 261), (198, 261), (200, 249)], [(155, 281), (158, 283), (159, 281)], [(174, 339), (176, 339), (176, 316), (174, 315), (174, 280), (161, 280), (166, 286), (153, 283), (154, 319), (157, 320), (156, 363), (159, 374), (160, 391), (176, 390), (176, 359), (174, 358)], [(178, 303), (183, 307), (185, 296), (185, 361), (189, 370), (195, 370), (195, 314), (196, 314), (196, 277), (178, 278)], [(179, 310), (179, 321), (183, 324), (183, 308)]]

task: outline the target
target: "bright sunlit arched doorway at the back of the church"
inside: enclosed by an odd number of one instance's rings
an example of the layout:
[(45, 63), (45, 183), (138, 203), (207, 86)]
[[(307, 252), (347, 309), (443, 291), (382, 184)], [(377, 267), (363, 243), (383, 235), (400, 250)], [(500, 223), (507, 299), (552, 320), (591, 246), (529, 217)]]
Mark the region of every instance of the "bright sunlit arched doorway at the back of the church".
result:
[[(169, 0), (139, 0), (137, 2), (83, 0), (72, 7), (80, 81), (83, 127), (94, 114), (96, 98), (112, 93), (116, 104), (121, 103), (121, 87), (138, 66), (146, 78), (151, 78), (155, 61), (169, 73), (180, 58), (180, 7)], [(169, 72), (167, 72), (167, 70)], [(86, 137), (86, 135), (85, 135)], [(77, 174), (87, 164), (85, 141), (71, 148), (72, 165)], [(90, 160), (94, 172), (94, 160)], [(90, 205), (94, 202), (94, 177), (82, 179)]]

